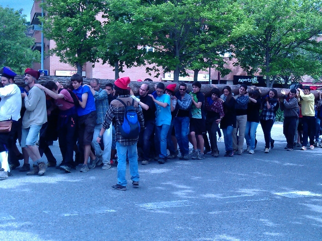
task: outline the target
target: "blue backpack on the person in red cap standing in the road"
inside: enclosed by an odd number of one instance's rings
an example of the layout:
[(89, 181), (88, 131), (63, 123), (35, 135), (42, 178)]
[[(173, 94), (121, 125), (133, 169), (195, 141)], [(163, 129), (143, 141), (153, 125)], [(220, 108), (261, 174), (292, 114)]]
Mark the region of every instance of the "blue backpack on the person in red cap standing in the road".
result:
[[(124, 121), (122, 124), (118, 125), (120, 133), (125, 139), (136, 139), (140, 133), (140, 124), (138, 122), (137, 113), (134, 108), (134, 99), (132, 99), (132, 104), (127, 105), (121, 99), (117, 98), (124, 107)], [(129, 102), (129, 101), (128, 101)]]

